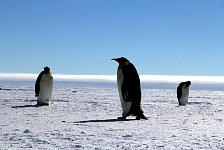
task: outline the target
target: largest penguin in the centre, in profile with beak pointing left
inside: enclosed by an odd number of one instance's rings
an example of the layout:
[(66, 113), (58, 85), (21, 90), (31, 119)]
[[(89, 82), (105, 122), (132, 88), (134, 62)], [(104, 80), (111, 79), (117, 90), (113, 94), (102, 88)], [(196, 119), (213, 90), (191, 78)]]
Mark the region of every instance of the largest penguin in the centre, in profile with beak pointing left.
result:
[(147, 119), (141, 109), (141, 86), (135, 66), (124, 57), (111, 60), (119, 63), (117, 87), (123, 113), (118, 119), (126, 119), (130, 115), (136, 116), (137, 120)]

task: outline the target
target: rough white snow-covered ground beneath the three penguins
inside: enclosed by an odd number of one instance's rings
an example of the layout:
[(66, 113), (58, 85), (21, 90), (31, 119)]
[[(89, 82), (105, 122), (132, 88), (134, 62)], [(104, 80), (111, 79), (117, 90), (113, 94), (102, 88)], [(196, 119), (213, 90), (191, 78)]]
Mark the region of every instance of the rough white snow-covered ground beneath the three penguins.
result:
[(49, 107), (35, 107), (34, 83), (0, 81), (0, 149), (224, 149), (220, 86), (190, 88), (179, 107), (177, 85), (145, 83), (148, 120), (117, 121), (115, 83), (55, 82)]

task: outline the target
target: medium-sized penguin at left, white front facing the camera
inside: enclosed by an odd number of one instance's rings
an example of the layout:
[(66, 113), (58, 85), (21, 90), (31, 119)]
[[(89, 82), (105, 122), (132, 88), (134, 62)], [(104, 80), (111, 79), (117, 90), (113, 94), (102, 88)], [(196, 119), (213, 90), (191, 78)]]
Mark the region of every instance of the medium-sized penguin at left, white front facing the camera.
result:
[(35, 83), (37, 105), (49, 105), (53, 92), (53, 77), (49, 67), (44, 67)]

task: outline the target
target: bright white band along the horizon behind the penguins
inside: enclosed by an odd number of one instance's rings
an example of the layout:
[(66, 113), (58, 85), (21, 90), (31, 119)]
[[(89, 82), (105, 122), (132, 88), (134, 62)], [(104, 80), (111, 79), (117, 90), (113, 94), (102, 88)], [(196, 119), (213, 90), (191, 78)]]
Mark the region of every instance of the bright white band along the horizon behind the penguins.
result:
[[(35, 73), (0, 73), (0, 80), (21, 81), (36, 80), (39, 74)], [(116, 82), (116, 75), (75, 75), (52, 74), (55, 81), (80, 81), (80, 82)], [(196, 75), (139, 75), (143, 83), (180, 83), (191, 81), (204, 84), (224, 84), (224, 76), (196, 76)]]

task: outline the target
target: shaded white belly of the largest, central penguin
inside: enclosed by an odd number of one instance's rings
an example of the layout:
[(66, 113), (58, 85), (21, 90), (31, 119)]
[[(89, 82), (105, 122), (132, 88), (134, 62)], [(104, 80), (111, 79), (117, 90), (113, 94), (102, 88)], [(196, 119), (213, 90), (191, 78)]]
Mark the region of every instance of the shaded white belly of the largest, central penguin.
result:
[(123, 99), (122, 91), (121, 91), (123, 80), (124, 80), (124, 77), (122, 74), (122, 69), (119, 66), (118, 70), (117, 70), (117, 87), (118, 87), (119, 97), (120, 97), (120, 101), (121, 101), (121, 107), (122, 107), (122, 111), (123, 111), (122, 117), (126, 117), (130, 111), (132, 102), (125, 102)]

